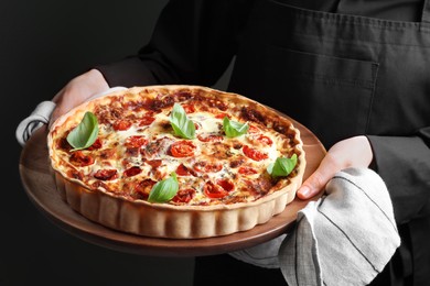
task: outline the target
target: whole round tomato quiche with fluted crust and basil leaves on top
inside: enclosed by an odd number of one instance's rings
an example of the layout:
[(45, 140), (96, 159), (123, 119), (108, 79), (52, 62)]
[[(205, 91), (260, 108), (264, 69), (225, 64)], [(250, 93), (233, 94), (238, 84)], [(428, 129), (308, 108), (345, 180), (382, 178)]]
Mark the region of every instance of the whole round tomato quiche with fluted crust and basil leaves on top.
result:
[(201, 86), (137, 86), (86, 101), (53, 123), (47, 147), (72, 209), (153, 238), (212, 238), (266, 223), (294, 199), (305, 168), (288, 118)]

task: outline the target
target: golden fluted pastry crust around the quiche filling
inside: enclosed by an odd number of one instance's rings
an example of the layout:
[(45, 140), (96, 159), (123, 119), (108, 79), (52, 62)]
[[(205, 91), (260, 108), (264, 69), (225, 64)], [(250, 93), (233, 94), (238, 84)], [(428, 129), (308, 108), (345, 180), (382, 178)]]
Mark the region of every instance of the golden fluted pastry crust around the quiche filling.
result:
[[(141, 88), (143, 87), (135, 87), (133, 90)], [(230, 98), (230, 94), (205, 87), (152, 86), (144, 88), (204, 89), (209, 92), (219, 92), (219, 95), (226, 95), (227, 98)], [(240, 97), (240, 100), (244, 99)], [(92, 103), (84, 103), (69, 111), (54, 123), (52, 130), (65, 123), (73, 112), (83, 113), (86, 105)], [(257, 102), (255, 105), (259, 106)], [(273, 111), (266, 110), (262, 106), (259, 108), (275, 116)], [(283, 187), (255, 201), (229, 205), (176, 206), (151, 204), (147, 200), (131, 200), (104, 189), (92, 189), (83, 182), (71, 178), (57, 167), (58, 162), (55, 157), (55, 146), (53, 144), (55, 133), (50, 132), (47, 144), (52, 162), (51, 169), (61, 197), (72, 209), (85, 218), (101, 226), (138, 235), (168, 239), (202, 239), (250, 230), (282, 212), (286, 206), (294, 199), (295, 191), (303, 179), (305, 154), (302, 148), (303, 143), (300, 138), (300, 131), (291, 123), (289, 128), (294, 134), (292, 141), (294, 142), (294, 153), (298, 155), (298, 164), (293, 174), (283, 183)]]

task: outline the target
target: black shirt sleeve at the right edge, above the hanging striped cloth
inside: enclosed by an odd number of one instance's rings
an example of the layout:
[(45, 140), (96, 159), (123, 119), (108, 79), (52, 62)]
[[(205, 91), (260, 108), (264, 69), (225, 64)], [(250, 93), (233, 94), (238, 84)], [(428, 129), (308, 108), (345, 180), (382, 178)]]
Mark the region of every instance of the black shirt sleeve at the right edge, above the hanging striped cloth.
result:
[(415, 136), (367, 136), (375, 156), (375, 168), (385, 180), (394, 205), (396, 221), (430, 215), (430, 127)]

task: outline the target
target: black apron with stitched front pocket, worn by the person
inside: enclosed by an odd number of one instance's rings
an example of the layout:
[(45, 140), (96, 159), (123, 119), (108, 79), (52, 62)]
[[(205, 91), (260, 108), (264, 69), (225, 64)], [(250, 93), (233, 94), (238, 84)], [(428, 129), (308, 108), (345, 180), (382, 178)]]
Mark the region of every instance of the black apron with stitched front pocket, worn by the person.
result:
[[(430, 0), (421, 22), (312, 11), (284, 2), (256, 4), (230, 91), (292, 117), (326, 148), (354, 135), (408, 136), (430, 125)], [(410, 228), (417, 233), (428, 223), (400, 227), (402, 245), (387, 266), (391, 285), (404, 284), (412, 265), (429, 265), (419, 249), (408, 245), (412, 240), (428, 252), (427, 234), (420, 241), (409, 238)], [(422, 267), (413, 275), (416, 283), (429, 276)]]

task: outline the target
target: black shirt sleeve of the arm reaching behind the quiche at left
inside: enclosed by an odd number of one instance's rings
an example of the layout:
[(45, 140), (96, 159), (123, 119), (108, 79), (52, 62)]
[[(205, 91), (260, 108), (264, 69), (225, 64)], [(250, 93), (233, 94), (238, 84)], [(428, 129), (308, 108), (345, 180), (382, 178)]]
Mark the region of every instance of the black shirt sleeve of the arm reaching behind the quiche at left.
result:
[(232, 62), (250, 0), (171, 0), (136, 55), (96, 66), (109, 86), (212, 86)]

